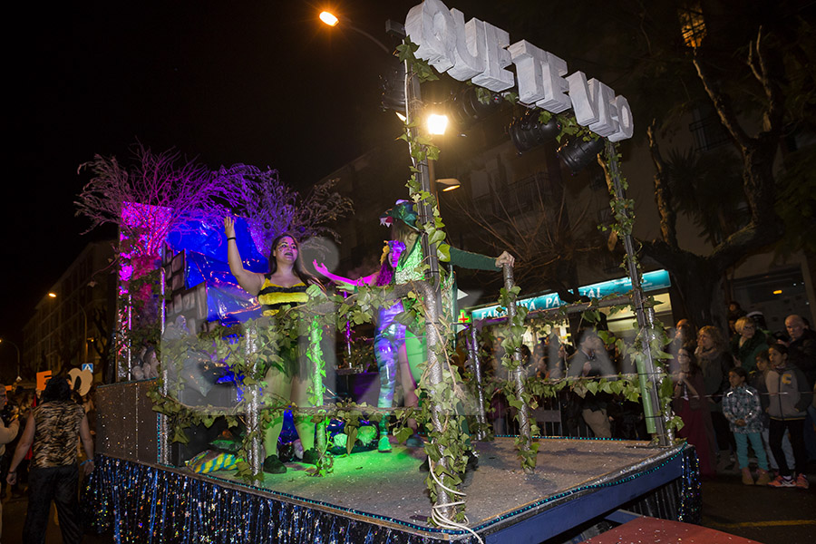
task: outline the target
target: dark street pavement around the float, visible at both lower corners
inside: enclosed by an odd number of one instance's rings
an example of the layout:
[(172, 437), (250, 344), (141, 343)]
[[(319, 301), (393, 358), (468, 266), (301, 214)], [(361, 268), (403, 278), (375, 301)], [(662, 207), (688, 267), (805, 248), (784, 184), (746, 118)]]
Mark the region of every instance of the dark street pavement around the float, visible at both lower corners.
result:
[[(703, 525), (763, 544), (805, 544), (816, 541), (816, 463), (809, 466), (811, 489), (772, 489), (743, 485), (738, 472), (718, 475), (703, 483)], [(28, 502), (6, 499), (3, 505), (3, 544), (22, 542)], [(48, 520), (45, 544), (60, 544), (62, 536)], [(112, 534), (86, 535), (84, 544), (111, 544)], [(555, 544), (548, 542), (548, 544)]]

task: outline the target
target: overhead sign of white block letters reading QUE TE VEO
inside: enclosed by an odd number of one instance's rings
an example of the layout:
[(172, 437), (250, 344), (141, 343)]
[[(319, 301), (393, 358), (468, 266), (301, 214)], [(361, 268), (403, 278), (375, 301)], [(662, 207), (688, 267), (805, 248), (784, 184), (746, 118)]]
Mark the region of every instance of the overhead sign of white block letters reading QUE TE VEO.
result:
[[(559, 113), (572, 108), (575, 119), (609, 141), (627, 140), (634, 132), (632, 109), (597, 79), (582, 72), (567, 75), (567, 63), (525, 40), (510, 44), (510, 34), (473, 18), (464, 22), (458, 9), (441, 0), (415, 5), (405, 19), (405, 32), (419, 45), (415, 55), (453, 79), (493, 92), (519, 84), (519, 102)], [(515, 77), (507, 69), (515, 64)], [(565, 77), (566, 76), (566, 77)]]

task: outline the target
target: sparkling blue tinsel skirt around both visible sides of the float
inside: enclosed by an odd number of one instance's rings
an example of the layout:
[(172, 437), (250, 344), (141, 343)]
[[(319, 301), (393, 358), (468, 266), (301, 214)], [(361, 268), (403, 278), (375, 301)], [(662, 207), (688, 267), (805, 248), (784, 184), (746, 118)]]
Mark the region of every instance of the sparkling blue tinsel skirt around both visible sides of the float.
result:
[[(394, 529), (393, 525), (377, 524), (377, 519), (355, 519), (353, 516), (359, 513), (354, 510), (349, 510), (346, 517), (321, 510), (316, 501), (291, 496), (272, 498), (260, 494), (265, 490), (257, 489), (256, 493), (255, 488), (221, 485), (219, 481), (201, 479), (183, 471), (104, 455), (97, 456), (96, 461), (92, 477), (83, 490), (86, 523), (97, 533), (112, 530), (116, 542), (441, 544), (456, 541), (470, 544), (476, 541), (462, 531), (414, 526), (414, 530), (440, 534), (438, 539), (423, 536), (411, 532), (404, 522), (406, 530)], [(620, 481), (565, 491), (472, 529), (488, 529), (503, 519), (523, 514), (524, 510), (578, 496), (581, 491), (637, 479), (677, 461), (682, 462), (680, 478), (627, 505), (627, 510), (665, 520), (699, 523), (702, 518), (699, 467), (694, 448), (687, 446), (660, 465), (645, 467)]]

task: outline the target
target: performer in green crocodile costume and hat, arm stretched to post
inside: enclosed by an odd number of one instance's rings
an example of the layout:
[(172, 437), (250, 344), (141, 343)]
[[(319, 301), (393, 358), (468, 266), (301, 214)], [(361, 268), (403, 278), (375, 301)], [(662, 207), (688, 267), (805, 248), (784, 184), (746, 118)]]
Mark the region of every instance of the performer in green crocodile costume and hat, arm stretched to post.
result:
[[(412, 281), (420, 281), (424, 279), (423, 276), (423, 255), (422, 238), (420, 237), (419, 228), (416, 226), (417, 213), (413, 202), (408, 200), (397, 200), (392, 209), (386, 210), (380, 216), (380, 223), (386, 227), (393, 228), (392, 239), (399, 240), (405, 245), (403, 255), (397, 263), (394, 272), (394, 283), (397, 285), (407, 284)], [(477, 253), (470, 253), (462, 251), (461, 249), (451, 247), (451, 266), (470, 268), (474, 270), (489, 270), (497, 271), (497, 268), (503, 265), (513, 266), (515, 259), (507, 251), (503, 251), (499, 257), (488, 257)], [(442, 306), (443, 309), (452, 322), (452, 316), (456, 315), (456, 293), (454, 277), (451, 273), (445, 278), (445, 283), (441, 287), (442, 290)], [(414, 335), (410, 329), (405, 330), (405, 352), (407, 355), (408, 366), (413, 377), (413, 384), (419, 383), (423, 375), (423, 369), (426, 367), (428, 360), (427, 350), (425, 347), (424, 335)], [(418, 404), (416, 395), (413, 395), (414, 406)], [(405, 404), (408, 404), (408, 397), (406, 396)], [(464, 419), (462, 418), (462, 423)], [(412, 437), (414, 440), (419, 440), (418, 437)], [(475, 464), (475, 457), (470, 458), (469, 466)], [(424, 467), (425, 465), (423, 465)]]

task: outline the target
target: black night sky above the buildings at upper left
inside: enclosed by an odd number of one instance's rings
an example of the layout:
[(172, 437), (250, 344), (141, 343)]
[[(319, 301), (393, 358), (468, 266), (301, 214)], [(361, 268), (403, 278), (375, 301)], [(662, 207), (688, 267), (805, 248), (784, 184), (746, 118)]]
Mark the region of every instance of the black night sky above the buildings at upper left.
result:
[[(92, 240), (73, 201), (94, 154), (141, 141), (211, 168), (272, 167), (298, 189), (398, 135), (379, 108), (387, 55), (317, 20), (318, 2), (170, 0), (14, 5), (5, 17), (5, 248), (0, 337), (22, 347), (34, 306)], [(335, 2), (382, 38), (419, 0)], [(462, 9), (468, 8), (459, 5)], [(472, 13), (472, 12), (471, 12)], [(466, 11), (466, 15), (469, 12)], [(471, 16), (479, 16), (472, 13)], [(482, 15), (483, 16), (483, 15)], [(0, 347), (0, 362), (15, 361)]]

